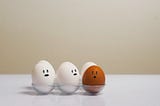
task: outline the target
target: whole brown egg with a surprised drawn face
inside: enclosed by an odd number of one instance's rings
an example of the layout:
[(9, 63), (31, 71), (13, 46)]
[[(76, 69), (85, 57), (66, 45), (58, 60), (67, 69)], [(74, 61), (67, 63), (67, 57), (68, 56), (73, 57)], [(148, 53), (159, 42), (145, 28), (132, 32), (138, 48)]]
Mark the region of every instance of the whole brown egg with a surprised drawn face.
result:
[(82, 76), (82, 84), (83, 88), (89, 93), (100, 92), (105, 85), (104, 71), (97, 65), (90, 66)]

